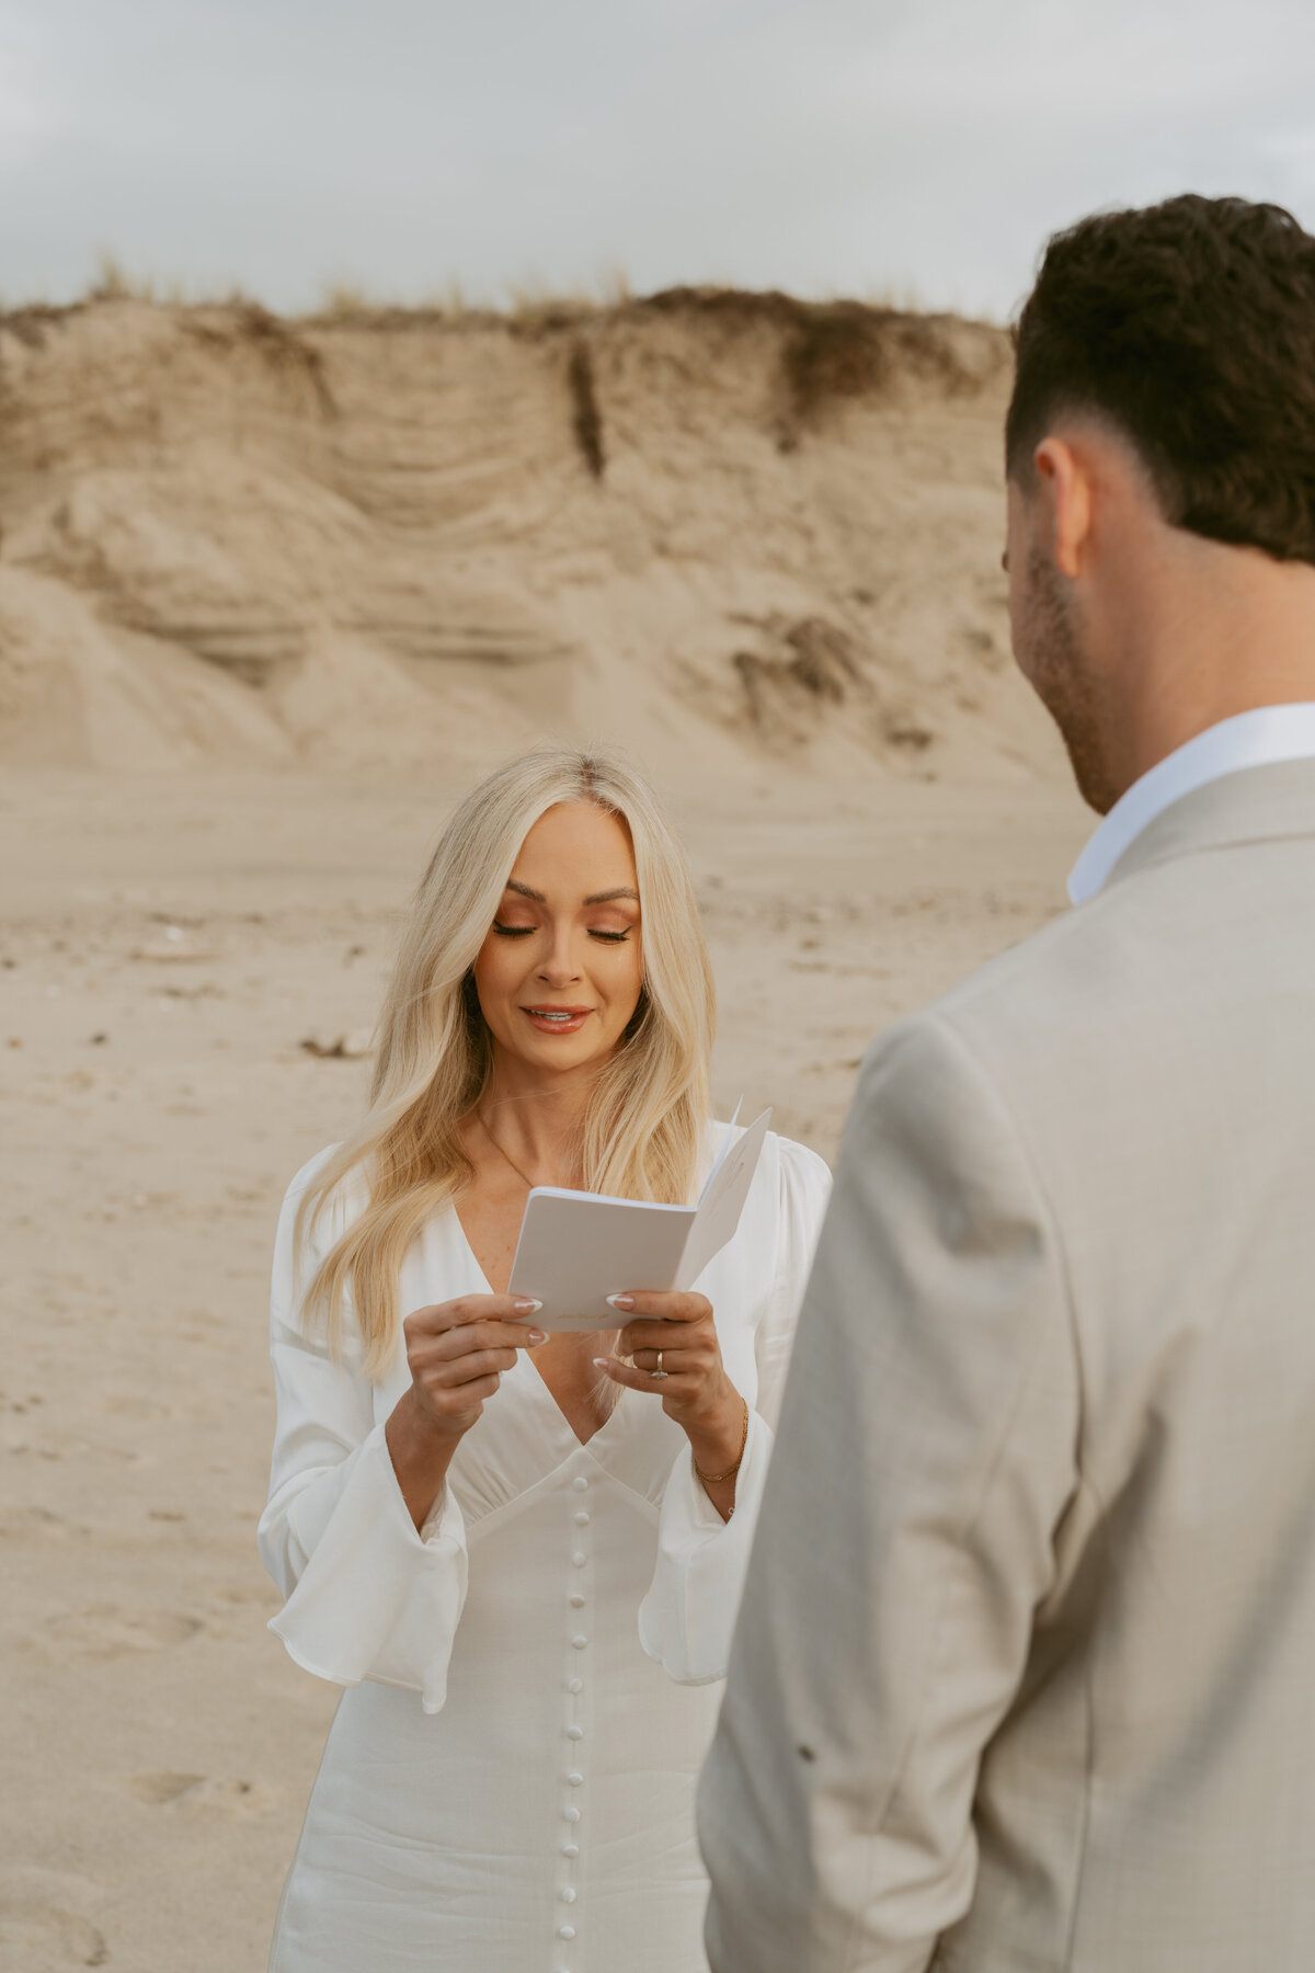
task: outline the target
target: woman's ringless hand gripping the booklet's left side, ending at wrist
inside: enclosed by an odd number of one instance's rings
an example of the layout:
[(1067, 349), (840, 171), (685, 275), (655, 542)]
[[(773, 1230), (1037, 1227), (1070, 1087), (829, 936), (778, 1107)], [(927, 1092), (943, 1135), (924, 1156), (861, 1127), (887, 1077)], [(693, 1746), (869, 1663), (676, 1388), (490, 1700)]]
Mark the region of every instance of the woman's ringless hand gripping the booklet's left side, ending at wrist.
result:
[(538, 1302), (511, 1294), (461, 1294), (455, 1302), (416, 1308), (402, 1322), (412, 1399), (440, 1438), (469, 1432), (517, 1350), (546, 1342), (544, 1330), (515, 1316), (532, 1316)]

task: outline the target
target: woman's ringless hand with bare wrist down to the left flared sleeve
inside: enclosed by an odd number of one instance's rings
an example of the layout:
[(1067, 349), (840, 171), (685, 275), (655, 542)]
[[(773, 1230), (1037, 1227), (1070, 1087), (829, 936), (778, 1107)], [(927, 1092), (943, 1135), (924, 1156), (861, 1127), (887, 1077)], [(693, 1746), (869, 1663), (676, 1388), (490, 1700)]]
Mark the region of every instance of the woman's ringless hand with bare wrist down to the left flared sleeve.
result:
[(461, 1294), (455, 1302), (416, 1308), (402, 1322), (410, 1389), (396, 1401), (384, 1438), (406, 1509), (424, 1527), (451, 1454), (499, 1387), (517, 1350), (546, 1342), (515, 1316), (538, 1302), (511, 1294)]

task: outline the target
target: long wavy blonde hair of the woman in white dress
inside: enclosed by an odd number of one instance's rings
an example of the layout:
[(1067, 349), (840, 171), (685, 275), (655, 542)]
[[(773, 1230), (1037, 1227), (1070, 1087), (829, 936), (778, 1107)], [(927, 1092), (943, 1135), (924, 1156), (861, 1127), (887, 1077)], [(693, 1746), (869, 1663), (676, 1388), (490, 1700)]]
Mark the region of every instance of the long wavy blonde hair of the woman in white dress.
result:
[(694, 886), (653, 789), (621, 758), (544, 746), (499, 767), (455, 811), (424, 874), (379, 1022), (371, 1107), (315, 1172), (296, 1251), (353, 1174), (369, 1202), (323, 1257), (302, 1320), (337, 1353), (347, 1300), (379, 1379), (398, 1336), (398, 1277), (424, 1221), (473, 1180), (461, 1123), (489, 1083), (493, 1044), (473, 965), (540, 815), (591, 801), (625, 821), (635, 848), (643, 990), (627, 1038), (589, 1093), (580, 1144), (584, 1186), (684, 1204), (708, 1123), (714, 986)]

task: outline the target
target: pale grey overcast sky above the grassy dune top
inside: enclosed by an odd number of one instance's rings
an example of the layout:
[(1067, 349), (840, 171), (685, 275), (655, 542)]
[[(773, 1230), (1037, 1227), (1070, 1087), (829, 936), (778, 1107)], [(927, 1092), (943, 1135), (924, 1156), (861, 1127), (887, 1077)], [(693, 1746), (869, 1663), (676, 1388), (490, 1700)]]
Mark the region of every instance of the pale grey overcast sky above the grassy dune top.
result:
[(1315, 227), (1311, 0), (0, 0), (0, 296), (329, 282), (1007, 316), (1096, 205)]

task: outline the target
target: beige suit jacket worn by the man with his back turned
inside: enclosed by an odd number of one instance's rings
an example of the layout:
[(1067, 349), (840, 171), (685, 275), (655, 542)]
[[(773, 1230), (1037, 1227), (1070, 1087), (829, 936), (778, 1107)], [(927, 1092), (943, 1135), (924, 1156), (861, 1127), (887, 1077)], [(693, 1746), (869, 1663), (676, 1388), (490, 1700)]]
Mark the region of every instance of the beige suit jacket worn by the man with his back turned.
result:
[(871, 1048), (700, 1835), (714, 1973), (1315, 1969), (1315, 764)]

